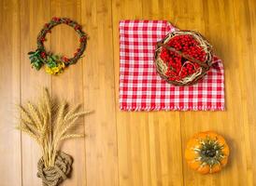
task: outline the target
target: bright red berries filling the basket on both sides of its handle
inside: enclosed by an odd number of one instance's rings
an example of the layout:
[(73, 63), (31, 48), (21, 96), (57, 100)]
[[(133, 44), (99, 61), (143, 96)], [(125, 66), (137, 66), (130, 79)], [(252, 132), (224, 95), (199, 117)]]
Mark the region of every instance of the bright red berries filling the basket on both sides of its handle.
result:
[[(177, 51), (192, 59), (204, 62), (206, 60), (206, 52), (199, 46), (199, 43), (192, 35), (177, 35), (169, 40), (167, 46), (175, 48)], [(171, 81), (180, 80), (186, 76), (195, 73), (200, 65), (180, 56), (177, 52), (170, 51), (166, 47), (162, 47), (160, 58), (168, 66), (165, 75)]]

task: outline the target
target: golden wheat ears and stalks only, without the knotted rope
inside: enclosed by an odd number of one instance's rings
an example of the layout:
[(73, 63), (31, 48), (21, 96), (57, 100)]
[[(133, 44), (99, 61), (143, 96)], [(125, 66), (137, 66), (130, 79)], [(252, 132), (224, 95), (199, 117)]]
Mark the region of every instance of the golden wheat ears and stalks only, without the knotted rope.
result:
[(52, 100), (47, 88), (44, 88), (37, 104), (28, 102), (19, 107), (21, 119), (17, 128), (39, 144), (46, 167), (54, 166), (62, 140), (84, 137), (83, 134), (73, 132), (78, 118), (86, 114), (79, 112), (80, 104), (69, 109), (66, 101)]

